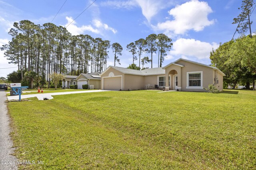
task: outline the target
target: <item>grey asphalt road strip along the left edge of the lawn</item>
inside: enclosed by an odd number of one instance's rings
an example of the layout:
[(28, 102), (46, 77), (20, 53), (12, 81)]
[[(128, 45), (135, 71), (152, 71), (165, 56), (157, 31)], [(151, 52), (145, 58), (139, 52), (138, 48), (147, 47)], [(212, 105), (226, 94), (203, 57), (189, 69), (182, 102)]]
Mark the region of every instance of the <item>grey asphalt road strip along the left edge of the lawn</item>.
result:
[(11, 155), (14, 148), (10, 138), (10, 118), (7, 114), (6, 100), (6, 92), (0, 90), (0, 170), (17, 170), (17, 159)]

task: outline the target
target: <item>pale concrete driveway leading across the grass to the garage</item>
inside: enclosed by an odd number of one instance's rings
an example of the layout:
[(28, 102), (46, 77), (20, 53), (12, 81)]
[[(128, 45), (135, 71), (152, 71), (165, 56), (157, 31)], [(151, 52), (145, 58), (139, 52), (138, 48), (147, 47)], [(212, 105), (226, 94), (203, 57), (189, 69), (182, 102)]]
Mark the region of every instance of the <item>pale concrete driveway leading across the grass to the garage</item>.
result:
[[(21, 99), (37, 97), (38, 100), (44, 100), (44, 98), (53, 99), (52, 96), (54, 96), (54, 95), (77, 94), (77, 93), (93, 93), (93, 92), (108, 92), (108, 91), (112, 91), (112, 90), (84, 90), (84, 91), (75, 91), (75, 92), (26, 94), (26, 95), (21, 95)], [(19, 96), (8, 96), (7, 98), (8, 98), (8, 100), (18, 100)]]

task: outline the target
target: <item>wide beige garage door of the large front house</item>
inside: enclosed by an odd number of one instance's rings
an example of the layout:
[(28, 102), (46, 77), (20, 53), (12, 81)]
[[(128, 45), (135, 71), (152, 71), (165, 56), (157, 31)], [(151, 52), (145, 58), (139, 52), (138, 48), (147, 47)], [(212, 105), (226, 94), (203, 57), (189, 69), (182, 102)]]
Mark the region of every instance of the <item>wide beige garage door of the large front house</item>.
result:
[(120, 90), (122, 89), (122, 77), (104, 78), (104, 90)]

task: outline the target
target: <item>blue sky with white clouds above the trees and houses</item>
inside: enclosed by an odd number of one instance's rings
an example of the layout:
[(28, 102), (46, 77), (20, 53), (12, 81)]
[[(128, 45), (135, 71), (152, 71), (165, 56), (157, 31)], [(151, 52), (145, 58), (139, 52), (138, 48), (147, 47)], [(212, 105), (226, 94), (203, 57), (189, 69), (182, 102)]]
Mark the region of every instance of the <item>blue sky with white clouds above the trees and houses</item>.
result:
[[(30, 20), (35, 24), (51, 22), (65, 0), (0, 0), (0, 45), (11, 39), (8, 30), (15, 21)], [(68, 25), (92, 0), (67, 0), (54, 19), (56, 25)], [(126, 45), (151, 33), (165, 33), (172, 39), (173, 47), (163, 65), (184, 58), (210, 64), (210, 51), (220, 42), (230, 41), (237, 25), (233, 18), (241, 12), (242, 0), (96, 0), (67, 29), (73, 35), (88, 34), (120, 43), (123, 47), (120, 63), (127, 67), (132, 55)], [(255, 21), (256, 11), (251, 20)], [(252, 31), (255, 31), (254, 24)], [(236, 37), (238, 37), (236, 33)], [(114, 58), (109, 50), (108, 65)], [(0, 68), (14, 67), (8, 64), (0, 51)], [(150, 56), (144, 54), (144, 56)], [(139, 61), (135, 61), (138, 65)], [(150, 64), (146, 65), (150, 67)], [(153, 56), (157, 67), (157, 56)], [(17, 68), (0, 69), (0, 76)]]

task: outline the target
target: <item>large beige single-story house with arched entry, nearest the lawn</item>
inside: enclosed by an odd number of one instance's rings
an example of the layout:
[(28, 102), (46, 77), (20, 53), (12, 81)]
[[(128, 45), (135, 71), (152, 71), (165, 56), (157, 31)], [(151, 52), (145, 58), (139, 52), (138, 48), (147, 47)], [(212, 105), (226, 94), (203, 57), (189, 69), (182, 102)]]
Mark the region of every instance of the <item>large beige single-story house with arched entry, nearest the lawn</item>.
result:
[(166, 90), (204, 92), (209, 84), (222, 90), (225, 74), (213, 66), (178, 59), (167, 66), (145, 70), (109, 66), (100, 76), (102, 90), (138, 90), (152, 84), (153, 88), (158, 85)]

